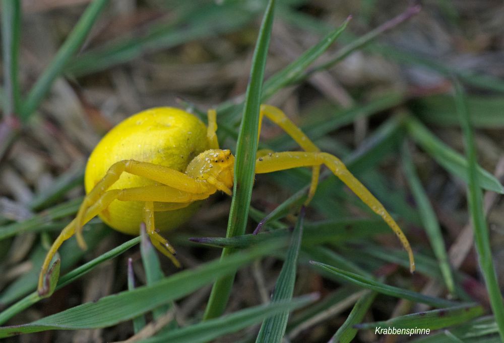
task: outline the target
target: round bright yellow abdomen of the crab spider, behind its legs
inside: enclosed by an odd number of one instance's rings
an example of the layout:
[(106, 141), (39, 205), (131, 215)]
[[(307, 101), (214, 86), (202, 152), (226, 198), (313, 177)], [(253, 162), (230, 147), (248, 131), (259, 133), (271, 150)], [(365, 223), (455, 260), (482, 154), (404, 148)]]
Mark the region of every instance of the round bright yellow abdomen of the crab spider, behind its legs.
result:
[[(117, 124), (96, 145), (86, 166), (86, 193), (117, 161), (134, 159), (184, 172), (189, 162), (208, 148), (207, 128), (194, 115), (169, 107), (140, 112)], [(110, 189), (155, 184), (146, 178), (123, 173)], [(198, 204), (194, 203), (178, 210), (156, 212), (156, 228), (167, 230), (177, 227), (190, 218), (197, 208)], [(99, 216), (118, 231), (138, 234), (143, 220), (142, 209), (142, 202), (114, 200)]]

